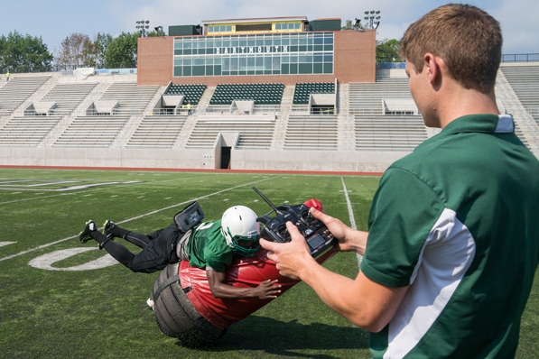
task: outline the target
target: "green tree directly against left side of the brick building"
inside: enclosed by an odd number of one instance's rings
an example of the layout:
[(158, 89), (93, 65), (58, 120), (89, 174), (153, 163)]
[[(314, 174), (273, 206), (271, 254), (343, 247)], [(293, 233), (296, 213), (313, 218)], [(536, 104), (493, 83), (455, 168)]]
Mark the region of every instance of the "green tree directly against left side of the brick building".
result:
[(139, 32), (122, 32), (116, 38), (107, 41), (105, 49), (105, 67), (114, 68), (135, 68), (137, 41)]

